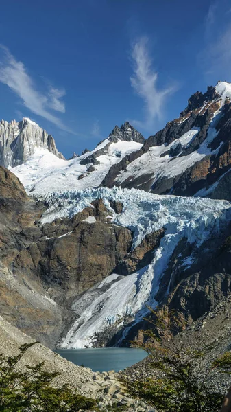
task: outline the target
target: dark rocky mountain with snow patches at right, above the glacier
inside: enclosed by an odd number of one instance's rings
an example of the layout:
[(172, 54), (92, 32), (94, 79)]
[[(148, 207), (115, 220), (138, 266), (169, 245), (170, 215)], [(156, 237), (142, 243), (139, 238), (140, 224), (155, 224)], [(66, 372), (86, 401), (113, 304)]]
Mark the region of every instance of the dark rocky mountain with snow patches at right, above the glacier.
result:
[(114, 165), (103, 185), (230, 200), (230, 98), (226, 82), (192, 95), (179, 119)]

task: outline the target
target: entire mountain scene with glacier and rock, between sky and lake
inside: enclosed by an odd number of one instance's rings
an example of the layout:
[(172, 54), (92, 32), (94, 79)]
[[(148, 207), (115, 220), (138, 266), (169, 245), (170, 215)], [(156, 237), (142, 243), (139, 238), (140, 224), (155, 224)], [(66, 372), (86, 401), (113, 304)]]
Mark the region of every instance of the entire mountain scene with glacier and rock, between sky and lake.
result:
[(3, 319), (49, 347), (126, 346), (147, 306), (191, 325), (228, 296), (230, 99), (219, 82), (149, 139), (125, 122), (69, 160), (2, 121)]

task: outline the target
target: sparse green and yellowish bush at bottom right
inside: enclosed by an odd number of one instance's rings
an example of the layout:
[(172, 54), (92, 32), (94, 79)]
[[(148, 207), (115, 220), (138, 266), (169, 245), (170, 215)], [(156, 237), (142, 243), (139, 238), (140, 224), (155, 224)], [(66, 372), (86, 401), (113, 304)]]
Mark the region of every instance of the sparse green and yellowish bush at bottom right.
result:
[(223, 394), (212, 386), (211, 378), (215, 371), (230, 373), (230, 353), (224, 354), (203, 370), (200, 363), (206, 353), (206, 346), (195, 347), (183, 335), (175, 339), (172, 330), (178, 328), (178, 321), (173, 313), (151, 312), (155, 318), (151, 323), (154, 323), (156, 332), (143, 332), (148, 338), (147, 342), (136, 344), (149, 354), (151, 377), (123, 380), (130, 396), (144, 400), (158, 412), (221, 411)]

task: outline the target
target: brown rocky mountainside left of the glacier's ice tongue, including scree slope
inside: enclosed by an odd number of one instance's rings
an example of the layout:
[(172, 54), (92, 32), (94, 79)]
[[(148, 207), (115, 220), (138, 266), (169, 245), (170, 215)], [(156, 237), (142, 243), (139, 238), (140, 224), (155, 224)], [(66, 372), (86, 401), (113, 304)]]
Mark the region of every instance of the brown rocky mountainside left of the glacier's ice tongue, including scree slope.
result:
[(130, 251), (132, 233), (111, 225), (100, 201), (42, 226), (44, 211), (0, 168), (1, 316), (53, 347), (75, 316), (73, 299), (110, 275)]

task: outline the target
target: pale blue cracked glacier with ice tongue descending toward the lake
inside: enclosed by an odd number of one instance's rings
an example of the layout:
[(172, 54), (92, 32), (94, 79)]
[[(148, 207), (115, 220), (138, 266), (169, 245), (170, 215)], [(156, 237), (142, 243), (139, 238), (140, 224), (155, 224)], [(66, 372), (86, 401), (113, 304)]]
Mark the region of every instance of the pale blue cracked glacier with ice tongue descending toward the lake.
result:
[[(40, 196), (40, 200), (45, 201), (48, 207), (42, 222), (71, 217), (97, 198), (103, 199), (113, 214), (109, 225), (121, 225), (134, 231), (133, 248), (138, 246), (147, 233), (162, 227), (165, 228), (165, 236), (160, 247), (154, 251), (149, 266), (125, 277), (114, 273), (76, 299), (73, 310), (77, 314), (77, 320), (62, 341), (62, 347), (90, 347), (94, 343), (95, 334), (103, 332), (110, 325), (123, 324), (125, 316), (129, 316), (134, 322), (141, 319), (147, 304), (156, 306), (155, 295), (161, 276), (180, 239), (185, 237), (199, 247), (231, 220), (228, 201), (159, 196), (142, 190), (100, 187)], [(121, 214), (115, 214), (110, 208), (111, 199), (123, 203)], [(89, 223), (94, 224), (93, 220)], [(186, 258), (184, 264), (185, 267), (190, 266), (191, 256)], [(126, 332), (125, 330), (124, 333)]]

